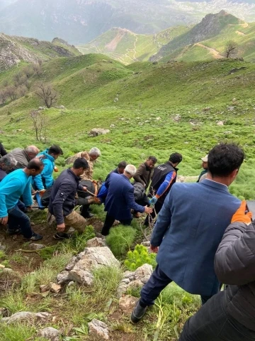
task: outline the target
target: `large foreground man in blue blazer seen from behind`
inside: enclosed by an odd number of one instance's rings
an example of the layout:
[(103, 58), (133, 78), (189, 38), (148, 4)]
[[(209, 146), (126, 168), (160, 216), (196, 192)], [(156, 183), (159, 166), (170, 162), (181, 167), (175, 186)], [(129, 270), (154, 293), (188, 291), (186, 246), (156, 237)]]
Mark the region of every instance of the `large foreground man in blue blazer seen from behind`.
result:
[(220, 290), (214, 257), (240, 200), (228, 191), (237, 177), (244, 152), (234, 144), (219, 144), (208, 155), (208, 176), (201, 183), (176, 183), (166, 197), (152, 232), (151, 249), (159, 252), (157, 267), (141, 291), (132, 312), (140, 321), (147, 307), (171, 281), (202, 303)]

